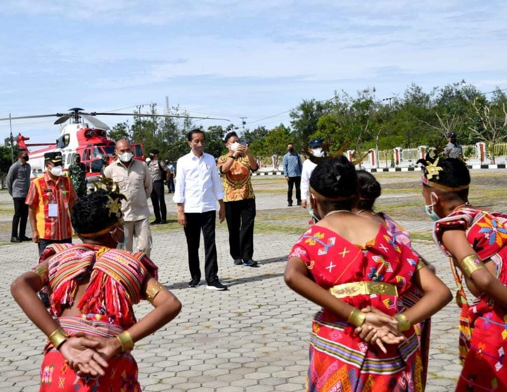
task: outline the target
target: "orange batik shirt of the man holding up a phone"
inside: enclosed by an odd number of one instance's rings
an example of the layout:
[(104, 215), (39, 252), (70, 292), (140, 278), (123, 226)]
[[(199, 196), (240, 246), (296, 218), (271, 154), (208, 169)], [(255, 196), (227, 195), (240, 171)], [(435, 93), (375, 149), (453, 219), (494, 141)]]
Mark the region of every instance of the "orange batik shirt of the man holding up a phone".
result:
[[(227, 162), (229, 154), (222, 155), (216, 166), (221, 167)], [(240, 155), (234, 160), (231, 168), (224, 176), (224, 202), (255, 199), (251, 181), (250, 164), (248, 157)]]

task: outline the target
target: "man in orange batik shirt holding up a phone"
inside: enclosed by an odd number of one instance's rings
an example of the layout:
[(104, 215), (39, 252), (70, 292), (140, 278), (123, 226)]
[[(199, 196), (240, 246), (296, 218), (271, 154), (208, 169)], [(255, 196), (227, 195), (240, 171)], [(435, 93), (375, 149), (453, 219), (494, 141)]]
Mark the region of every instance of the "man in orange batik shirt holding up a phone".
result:
[(240, 144), (236, 132), (229, 132), (225, 139), (229, 150), (217, 164), (224, 176), (224, 205), (229, 228), (229, 250), (235, 265), (257, 265), (253, 256), (253, 222), (256, 216), (255, 194), (251, 172), (258, 169), (248, 145)]

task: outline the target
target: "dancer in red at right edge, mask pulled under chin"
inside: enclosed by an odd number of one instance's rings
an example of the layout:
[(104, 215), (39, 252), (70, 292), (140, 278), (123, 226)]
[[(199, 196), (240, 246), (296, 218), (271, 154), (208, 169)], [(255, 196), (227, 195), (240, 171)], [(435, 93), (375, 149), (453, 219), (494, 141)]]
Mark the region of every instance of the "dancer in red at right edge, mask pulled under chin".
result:
[[(507, 390), (507, 214), (468, 203), (470, 174), (456, 158), (419, 161), (433, 238), (450, 257), (461, 307), (457, 391)], [(465, 280), (473, 303), (466, 300)]]

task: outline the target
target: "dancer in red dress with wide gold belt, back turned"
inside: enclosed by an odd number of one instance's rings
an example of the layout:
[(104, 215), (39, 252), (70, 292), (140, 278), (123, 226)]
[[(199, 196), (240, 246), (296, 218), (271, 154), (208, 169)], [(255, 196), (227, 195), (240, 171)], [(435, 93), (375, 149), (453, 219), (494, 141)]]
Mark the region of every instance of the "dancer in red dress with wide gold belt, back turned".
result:
[[(383, 225), (352, 213), (357, 174), (343, 156), (319, 164), (310, 178), (319, 222), (289, 255), (285, 282), (322, 306), (313, 318), (307, 390), (422, 392), (414, 324), (452, 296), (409, 247)], [(401, 296), (416, 285), (411, 308)]]

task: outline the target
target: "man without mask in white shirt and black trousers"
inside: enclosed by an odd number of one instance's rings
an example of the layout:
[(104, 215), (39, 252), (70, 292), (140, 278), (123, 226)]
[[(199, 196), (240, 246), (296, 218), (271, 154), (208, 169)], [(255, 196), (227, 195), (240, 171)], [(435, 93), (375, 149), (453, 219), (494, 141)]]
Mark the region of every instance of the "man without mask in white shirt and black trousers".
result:
[(220, 223), (225, 220), (224, 190), (213, 155), (204, 152), (205, 135), (199, 129), (187, 135), (192, 151), (178, 159), (178, 177), (172, 200), (178, 206), (178, 223), (184, 226), (192, 280), (189, 287), (201, 281), (199, 242), (204, 237), (204, 275), (210, 290), (227, 290), (220, 283), (215, 245), (216, 201), (220, 203)]

